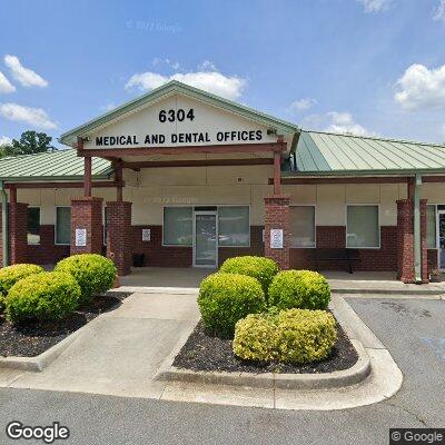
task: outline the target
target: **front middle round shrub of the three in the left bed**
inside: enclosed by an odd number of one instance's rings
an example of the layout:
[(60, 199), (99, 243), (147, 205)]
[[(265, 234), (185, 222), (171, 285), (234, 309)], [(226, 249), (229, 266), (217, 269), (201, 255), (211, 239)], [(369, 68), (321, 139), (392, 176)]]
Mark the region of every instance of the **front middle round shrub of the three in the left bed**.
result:
[(7, 319), (60, 320), (72, 314), (80, 298), (76, 279), (65, 273), (44, 271), (30, 275), (9, 290), (6, 298)]

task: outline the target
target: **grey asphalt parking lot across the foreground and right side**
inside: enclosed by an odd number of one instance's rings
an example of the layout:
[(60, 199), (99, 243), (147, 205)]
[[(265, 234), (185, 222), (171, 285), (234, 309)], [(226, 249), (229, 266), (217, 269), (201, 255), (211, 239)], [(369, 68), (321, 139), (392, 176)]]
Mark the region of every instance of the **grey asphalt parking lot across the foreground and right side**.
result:
[(444, 427), (445, 301), (348, 303), (404, 373), (402, 389), (388, 400), (346, 411), (285, 412), (8, 388), (0, 390), (0, 443), (30, 443), (6, 437), (12, 419), (33, 426), (59, 421), (70, 428), (70, 444), (374, 445), (388, 443), (390, 427)]

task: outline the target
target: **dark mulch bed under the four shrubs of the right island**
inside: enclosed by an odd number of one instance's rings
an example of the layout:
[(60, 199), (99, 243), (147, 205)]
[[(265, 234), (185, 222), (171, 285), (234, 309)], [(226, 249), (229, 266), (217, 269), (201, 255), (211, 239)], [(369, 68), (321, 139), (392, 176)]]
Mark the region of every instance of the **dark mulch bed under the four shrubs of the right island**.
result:
[(182, 349), (175, 357), (174, 366), (192, 370), (225, 370), (233, 373), (319, 374), (350, 368), (358, 359), (357, 352), (337, 323), (338, 339), (330, 356), (307, 364), (260, 363), (237, 358), (231, 340), (211, 337), (199, 322)]

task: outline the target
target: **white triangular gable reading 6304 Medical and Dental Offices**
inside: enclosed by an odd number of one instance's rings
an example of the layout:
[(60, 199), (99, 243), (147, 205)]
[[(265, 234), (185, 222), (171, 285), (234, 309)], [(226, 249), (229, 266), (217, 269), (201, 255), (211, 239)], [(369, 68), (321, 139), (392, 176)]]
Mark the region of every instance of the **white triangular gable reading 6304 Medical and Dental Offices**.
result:
[(146, 148), (276, 142), (266, 126), (181, 95), (105, 127), (85, 148)]

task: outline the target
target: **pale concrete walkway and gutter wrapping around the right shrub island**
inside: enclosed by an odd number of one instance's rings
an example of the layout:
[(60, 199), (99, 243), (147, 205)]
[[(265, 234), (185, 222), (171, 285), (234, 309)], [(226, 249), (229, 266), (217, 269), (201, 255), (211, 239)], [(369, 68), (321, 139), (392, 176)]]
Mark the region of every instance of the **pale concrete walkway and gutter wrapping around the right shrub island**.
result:
[(390, 354), (348, 312), (340, 296), (334, 297), (332, 307), (344, 312), (339, 319), (347, 324), (350, 338), (363, 343), (372, 363), (370, 375), (360, 384), (318, 390), (258, 390), (158, 380), (155, 375), (162, 362), (186, 342), (199, 319), (196, 297), (192, 289), (182, 294), (135, 293), (117, 309), (88, 324), (42, 372), (0, 368), (0, 386), (266, 408), (344, 409), (388, 398), (402, 384)]

